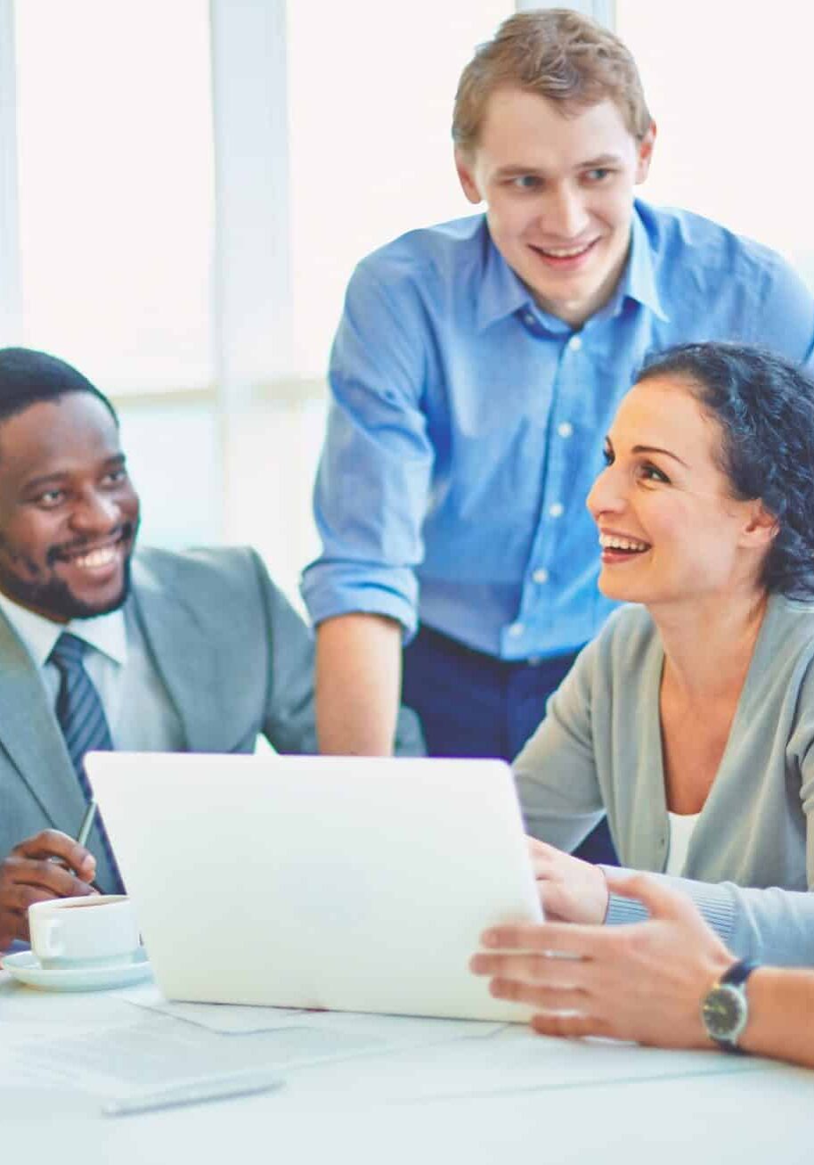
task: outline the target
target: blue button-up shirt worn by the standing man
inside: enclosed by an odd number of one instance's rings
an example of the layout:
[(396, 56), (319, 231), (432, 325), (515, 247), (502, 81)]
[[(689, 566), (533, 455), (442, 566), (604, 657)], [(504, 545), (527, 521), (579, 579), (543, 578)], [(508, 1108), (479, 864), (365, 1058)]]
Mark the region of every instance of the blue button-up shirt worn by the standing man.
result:
[(814, 302), (779, 255), (637, 202), (620, 284), (574, 331), (546, 315), (483, 216), (412, 231), (351, 280), (317, 478), (314, 622), (417, 617), (504, 659), (572, 651), (613, 609), (586, 497), (645, 360), (689, 340), (812, 361)]

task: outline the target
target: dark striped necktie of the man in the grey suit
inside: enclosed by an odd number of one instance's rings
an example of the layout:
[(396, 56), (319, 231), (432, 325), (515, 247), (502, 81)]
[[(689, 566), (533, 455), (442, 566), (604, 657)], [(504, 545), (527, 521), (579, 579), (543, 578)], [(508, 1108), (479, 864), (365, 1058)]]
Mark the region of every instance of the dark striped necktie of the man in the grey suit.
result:
[[(85, 772), (85, 754), (92, 750), (111, 751), (113, 741), (99, 693), (82, 662), (85, 647), (83, 640), (71, 635), (70, 631), (63, 631), (54, 645), (49, 661), (57, 666), (61, 676), (56, 706), (57, 720), (65, 737), (65, 747), (79, 786), (85, 800), (89, 802), (93, 793)], [(97, 832), (114, 873), (113, 892), (123, 894), (113, 848), (99, 814), (97, 814)]]

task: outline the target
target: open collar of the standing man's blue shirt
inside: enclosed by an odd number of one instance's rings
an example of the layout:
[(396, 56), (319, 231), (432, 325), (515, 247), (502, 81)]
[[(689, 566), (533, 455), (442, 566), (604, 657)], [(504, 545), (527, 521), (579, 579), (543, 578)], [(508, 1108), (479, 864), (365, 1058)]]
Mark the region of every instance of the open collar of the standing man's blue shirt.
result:
[[(522, 308), (530, 308), (538, 317), (543, 313), (536, 306), (525, 283), (509, 267), (500, 250), (491, 241), (489, 228), (486, 232), (486, 259), (483, 264), (483, 282), (477, 299), (477, 329), (483, 331), (498, 319), (504, 319)], [(638, 207), (633, 205), (633, 217), (630, 231), (630, 255), (625, 263), (622, 278), (610, 299), (610, 303), (599, 315), (615, 316), (622, 309), (625, 299), (636, 299), (644, 308), (665, 323), (670, 317), (665, 312), (656, 285), (653, 270), (653, 252), (647, 232), (642, 221)], [(551, 320), (550, 316), (544, 316)], [(567, 329), (567, 325), (565, 325)]]

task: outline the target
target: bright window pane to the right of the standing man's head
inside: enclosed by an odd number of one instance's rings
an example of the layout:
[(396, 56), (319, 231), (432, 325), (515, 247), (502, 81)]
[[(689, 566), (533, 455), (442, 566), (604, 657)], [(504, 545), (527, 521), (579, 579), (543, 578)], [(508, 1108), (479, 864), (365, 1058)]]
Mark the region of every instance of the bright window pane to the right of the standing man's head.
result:
[(659, 129), (643, 197), (717, 219), (784, 253), (814, 287), (814, 7), (616, 0)]

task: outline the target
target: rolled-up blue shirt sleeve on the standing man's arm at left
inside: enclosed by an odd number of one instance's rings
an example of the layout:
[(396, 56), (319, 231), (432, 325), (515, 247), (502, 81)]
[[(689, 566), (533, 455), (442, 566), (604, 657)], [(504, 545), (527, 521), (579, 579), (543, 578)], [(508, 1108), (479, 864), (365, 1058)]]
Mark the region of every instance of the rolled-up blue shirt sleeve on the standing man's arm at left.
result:
[(422, 401), (427, 326), (406, 277), (360, 264), (331, 355), (332, 403), (314, 489), (320, 557), (303, 574), (311, 619), (367, 612), (416, 626), (415, 567), (433, 449)]

